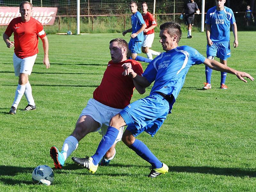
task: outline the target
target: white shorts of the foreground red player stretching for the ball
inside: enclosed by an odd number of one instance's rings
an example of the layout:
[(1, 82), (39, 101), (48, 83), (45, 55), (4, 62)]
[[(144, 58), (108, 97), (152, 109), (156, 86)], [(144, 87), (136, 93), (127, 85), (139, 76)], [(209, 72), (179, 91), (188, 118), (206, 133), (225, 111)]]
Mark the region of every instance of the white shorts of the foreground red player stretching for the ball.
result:
[[(122, 111), (122, 109), (108, 107), (99, 101), (96, 101), (95, 99), (89, 99), (87, 106), (82, 110), (79, 117), (83, 115), (89, 115), (95, 121), (99, 122), (100, 127), (97, 129), (97, 131), (103, 136), (107, 132), (110, 119), (120, 111)], [(124, 126), (120, 128), (115, 143), (122, 139), (123, 132)]]

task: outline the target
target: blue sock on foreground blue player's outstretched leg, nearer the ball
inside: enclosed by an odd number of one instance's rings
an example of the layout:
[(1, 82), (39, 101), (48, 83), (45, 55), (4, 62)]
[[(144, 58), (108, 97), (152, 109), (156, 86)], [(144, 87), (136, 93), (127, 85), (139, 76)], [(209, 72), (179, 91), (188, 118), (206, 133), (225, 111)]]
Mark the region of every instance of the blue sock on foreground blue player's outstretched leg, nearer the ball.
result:
[(92, 163), (97, 165), (99, 164), (101, 158), (106, 154), (108, 149), (114, 144), (116, 141), (119, 130), (115, 127), (108, 127), (106, 135), (104, 135), (100, 141), (100, 144), (92, 156)]

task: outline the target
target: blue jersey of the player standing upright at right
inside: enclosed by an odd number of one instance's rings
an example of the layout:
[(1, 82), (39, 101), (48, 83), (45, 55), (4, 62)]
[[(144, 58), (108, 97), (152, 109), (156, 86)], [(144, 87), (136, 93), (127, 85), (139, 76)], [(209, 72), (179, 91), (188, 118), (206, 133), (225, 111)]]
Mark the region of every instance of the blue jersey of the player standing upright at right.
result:
[(226, 6), (222, 11), (218, 11), (216, 7), (207, 11), (205, 23), (211, 25), (210, 38), (213, 42), (226, 43), (230, 40), (230, 24), (236, 22), (235, 16)]

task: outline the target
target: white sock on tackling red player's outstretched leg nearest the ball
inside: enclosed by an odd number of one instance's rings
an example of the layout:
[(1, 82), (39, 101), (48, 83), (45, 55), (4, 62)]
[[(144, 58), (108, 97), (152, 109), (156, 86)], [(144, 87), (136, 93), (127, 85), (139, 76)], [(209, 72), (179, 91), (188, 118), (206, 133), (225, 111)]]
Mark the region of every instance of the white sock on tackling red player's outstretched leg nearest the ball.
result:
[(76, 150), (77, 146), (78, 140), (74, 136), (68, 136), (62, 146), (62, 154), (64, 156), (65, 161), (68, 158), (68, 156), (70, 156), (70, 154)]

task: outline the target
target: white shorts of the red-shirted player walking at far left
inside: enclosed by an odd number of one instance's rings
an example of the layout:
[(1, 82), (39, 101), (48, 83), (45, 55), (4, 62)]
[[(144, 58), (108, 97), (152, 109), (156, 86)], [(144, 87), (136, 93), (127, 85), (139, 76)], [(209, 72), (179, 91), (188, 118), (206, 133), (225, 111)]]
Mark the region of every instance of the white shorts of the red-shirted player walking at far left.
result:
[(37, 54), (35, 54), (31, 57), (26, 57), (24, 59), (20, 59), (14, 53), (12, 59), (13, 59), (13, 67), (14, 67), (15, 76), (20, 76), (20, 73), (26, 73), (26, 74), (30, 75), (32, 72), (32, 68), (35, 64), (36, 56), (37, 56)]

